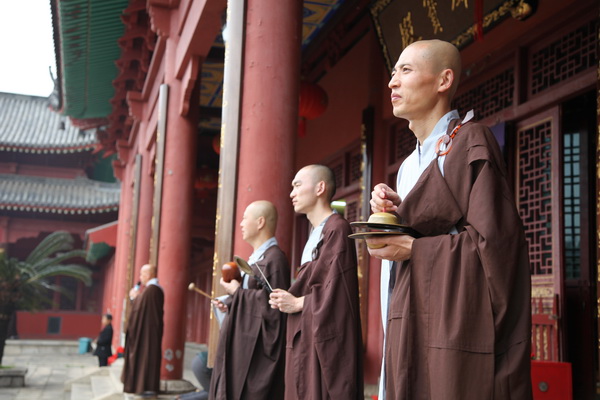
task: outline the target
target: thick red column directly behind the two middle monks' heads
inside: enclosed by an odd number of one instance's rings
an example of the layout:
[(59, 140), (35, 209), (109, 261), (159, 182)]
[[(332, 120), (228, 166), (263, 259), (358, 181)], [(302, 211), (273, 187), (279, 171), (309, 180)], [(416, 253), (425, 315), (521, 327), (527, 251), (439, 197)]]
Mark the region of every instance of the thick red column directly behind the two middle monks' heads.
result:
[[(277, 240), (288, 255), (301, 23), (301, 1), (248, 0), (236, 226), (249, 203), (273, 202), (279, 213)], [(250, 250), (237, 229), (234, 253), (248, 256)]]

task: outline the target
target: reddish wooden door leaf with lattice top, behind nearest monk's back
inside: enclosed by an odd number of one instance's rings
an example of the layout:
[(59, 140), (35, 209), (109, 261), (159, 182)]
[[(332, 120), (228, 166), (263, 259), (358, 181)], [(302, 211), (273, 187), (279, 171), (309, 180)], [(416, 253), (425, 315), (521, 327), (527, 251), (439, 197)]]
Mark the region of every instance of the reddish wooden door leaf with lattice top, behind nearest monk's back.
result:
[[(517, 204), (529, 244), (534, 314), (562, 315), (562, 220), (560, 171), (556, 155), (559, 143), (558, 107), (521, 121), (516, 126)], [(558, 301), (557, 301), (558, 300)], [(556, 313), (556, 314), (555, 314)], [(534, 317), (534, 320), (536, 318)], [(534, 324), (532, 345), (540, 360), (560, 361), (560, 324)]]

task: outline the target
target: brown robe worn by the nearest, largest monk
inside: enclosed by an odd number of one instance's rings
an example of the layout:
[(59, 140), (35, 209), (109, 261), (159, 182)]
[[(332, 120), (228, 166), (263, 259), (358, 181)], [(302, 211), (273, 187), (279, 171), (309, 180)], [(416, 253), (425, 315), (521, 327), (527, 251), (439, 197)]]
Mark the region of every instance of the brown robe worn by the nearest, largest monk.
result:
[(444, 176), (433, 160), (398, 208), (426, 237), (396, 270), (388, 400), (531, 399), (527, 243), (503, 164), (491, 132), (468, 123)]

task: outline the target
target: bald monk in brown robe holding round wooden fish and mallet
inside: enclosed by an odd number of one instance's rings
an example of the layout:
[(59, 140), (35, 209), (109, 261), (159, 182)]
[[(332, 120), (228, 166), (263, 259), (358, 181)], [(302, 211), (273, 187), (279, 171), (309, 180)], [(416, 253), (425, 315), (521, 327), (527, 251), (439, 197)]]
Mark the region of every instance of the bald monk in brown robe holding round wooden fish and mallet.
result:
[(268, 201), (251, 203), (244, 211), (242, 238), (254, 252), (248, 259), (255, 279), (245, 276), (244, 287), (237, 280), (221, 286), (231, 296), (228, 305), (213, 300), (227, 312), (211, 377), (210, 399), (272, 400), (283, 398), (286, 315), (269, 306), (268, 286), (290, 286), (290, 267), (277, 245), (277, 209)]

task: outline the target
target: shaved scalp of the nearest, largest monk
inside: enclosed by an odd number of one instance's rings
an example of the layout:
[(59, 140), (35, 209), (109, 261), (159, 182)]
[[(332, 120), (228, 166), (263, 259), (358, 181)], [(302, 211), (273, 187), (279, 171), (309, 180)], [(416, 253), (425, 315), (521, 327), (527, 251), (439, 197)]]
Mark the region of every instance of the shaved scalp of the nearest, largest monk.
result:
[(420, 56), (430, 66), (432, 73), (437, 75), (446, 69), (453, 72), (454, 80), (449, 92), (450, 99), (452, 99), (458, 88), (462, 69), (460, 52), (456, 46), (443, 40), (434, 39), (411, 43), (406, 49), (410, 47), (417, 47), (419, 49)]

